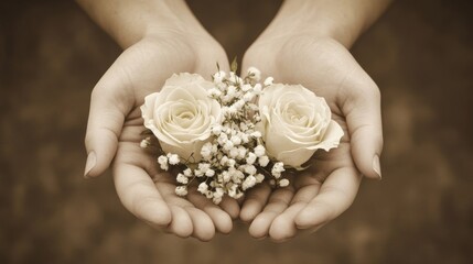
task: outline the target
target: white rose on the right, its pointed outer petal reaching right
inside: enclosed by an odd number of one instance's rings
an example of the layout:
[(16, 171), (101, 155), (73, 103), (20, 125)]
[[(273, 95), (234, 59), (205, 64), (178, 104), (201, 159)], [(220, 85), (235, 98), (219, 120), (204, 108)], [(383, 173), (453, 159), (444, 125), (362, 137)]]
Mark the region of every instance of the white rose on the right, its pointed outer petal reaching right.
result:
[(325, 99), (300, 85), (265, 88), (259, 109), (267, 153), (284, 165), (301, 168), (316, 150), (336, 147), (343, 136)]

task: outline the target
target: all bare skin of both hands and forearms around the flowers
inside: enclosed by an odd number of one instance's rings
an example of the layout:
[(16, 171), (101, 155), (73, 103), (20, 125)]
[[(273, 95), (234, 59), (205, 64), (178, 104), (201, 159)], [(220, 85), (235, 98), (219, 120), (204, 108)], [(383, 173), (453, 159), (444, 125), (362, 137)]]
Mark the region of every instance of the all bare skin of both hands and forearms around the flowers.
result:
[(138, 218), (179, 237), (211, 240), (228, 233), (232, 219), (250, 222), (255, 238), (284, 241), (313, 231), (353, 202), (362, 174), (380, 178), (380, 96), (347, 48), (388, 6), (388, 0), (287, 0), (247, 51), (244, 69), (256, 66), (278, 82), (302, 84), (325, 97), (345, 135), (338, 148), (318, 152), (311, 168), (288, 188), (261, 185), (240, 205), (215, 206), (190, 190), (174, 194), (172, 176), (157, 169), (139, 147), (144, 130), (139, 107), (173, 73), (228, 70), (222, 46), (203, 29), (183, 0), (77, 0), (123, 48), (95, 86), (86, 132), (85, 177), (110, 164), (118, 196)]

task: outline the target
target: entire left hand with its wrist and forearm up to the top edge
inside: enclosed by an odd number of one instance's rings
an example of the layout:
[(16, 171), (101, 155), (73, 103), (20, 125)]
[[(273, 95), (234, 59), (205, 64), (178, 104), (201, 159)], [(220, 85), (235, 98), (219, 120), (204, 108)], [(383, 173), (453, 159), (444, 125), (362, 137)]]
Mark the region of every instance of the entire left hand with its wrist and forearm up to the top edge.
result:
[(215, 62), (228, 69), (224, 50), (184, 1), (78, 3), (125, 50), (92, 94), (85, 176), (98, 176), (112, 163), (123, 206), (159, 230), (202, 241), (216, 232), (228, 233), (239, 212), (235, 200), (215, 206), (195, 189), (187, 198), (176, 196), (173, 177), (157, 169), (155, 158), (139, 146), (144, 130), (139, 107), (144, 97), (158, 91), (173, 73), (211, 76)]

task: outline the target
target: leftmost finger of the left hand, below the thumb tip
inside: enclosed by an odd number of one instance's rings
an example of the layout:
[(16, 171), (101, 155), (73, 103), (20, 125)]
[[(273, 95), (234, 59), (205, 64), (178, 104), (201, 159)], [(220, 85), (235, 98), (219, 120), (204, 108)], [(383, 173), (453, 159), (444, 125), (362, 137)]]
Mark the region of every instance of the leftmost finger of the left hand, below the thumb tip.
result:
[[(142, 168), (126, 163), (114, 166), (115, 186), (123, 206), (136, 217), (157, 228), (171, 223), (172, 212)], [(175, 221), (175, 219), (173, 219)]]

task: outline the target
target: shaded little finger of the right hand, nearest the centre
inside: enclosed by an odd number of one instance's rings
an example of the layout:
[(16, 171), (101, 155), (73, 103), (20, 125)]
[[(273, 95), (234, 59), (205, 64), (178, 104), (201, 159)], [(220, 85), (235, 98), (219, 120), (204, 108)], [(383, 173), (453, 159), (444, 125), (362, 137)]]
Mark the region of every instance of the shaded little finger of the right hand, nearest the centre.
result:
[(240, 219), (245, 222), (252, 221), (261, 212), (271, 194), (271, 187), (268, 184), (260, 184), (250, 189), (245, 197), (241, 206)]

